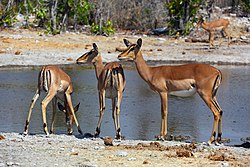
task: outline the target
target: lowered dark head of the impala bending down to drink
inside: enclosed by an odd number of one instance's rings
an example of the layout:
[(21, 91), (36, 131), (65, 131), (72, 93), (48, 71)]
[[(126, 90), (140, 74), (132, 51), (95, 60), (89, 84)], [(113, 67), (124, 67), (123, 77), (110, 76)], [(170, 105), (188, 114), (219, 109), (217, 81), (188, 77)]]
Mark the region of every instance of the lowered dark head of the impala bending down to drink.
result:
[[(64, 112), (65, 114), (65, 122), (67, 124), (67, 129), (68, 129), (68, 134), (72, 134), (73, 133), (73, 124), (75, 123), (74, 117), (72, 112), (70, 111), (69, 105), (67, 103), (64, 103), (64, 106), (61, 103), (57, 103), (58, 108), (60, 111)], [(78, 103), (75, 107), (74, 107), (74, 111), (75, 113), (78, 111), (79, 109), (79, 105), (80, 103)]]

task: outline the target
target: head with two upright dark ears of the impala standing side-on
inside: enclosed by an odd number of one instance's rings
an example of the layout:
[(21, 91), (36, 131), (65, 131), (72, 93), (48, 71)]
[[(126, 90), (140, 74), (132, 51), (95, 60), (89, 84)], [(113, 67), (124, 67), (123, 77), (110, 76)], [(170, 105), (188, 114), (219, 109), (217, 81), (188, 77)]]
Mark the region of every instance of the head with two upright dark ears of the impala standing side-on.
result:
[(123, 39), (123, 42), (127, 46), (127, 49), (118, 55), (119, 60), (134, 61), (137, 53), (141, 49), (142, 39), (139, 38), (136, 44), (131, 44), (127, 39)]

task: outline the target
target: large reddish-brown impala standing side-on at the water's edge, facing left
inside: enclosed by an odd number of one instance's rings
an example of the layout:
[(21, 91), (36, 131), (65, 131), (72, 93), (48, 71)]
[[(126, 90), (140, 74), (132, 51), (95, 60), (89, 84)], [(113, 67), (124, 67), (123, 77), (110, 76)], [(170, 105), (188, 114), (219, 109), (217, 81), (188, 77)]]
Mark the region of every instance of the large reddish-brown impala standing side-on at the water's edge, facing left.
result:
[(167, 135), (168, 93), (196, 88), (214, 115), (214, 126), (208, 144), (215, 141), (218, 127), (217, 141), (222, 135), (222, 110), (216, 100), (216, 92), (221, 83), (221, 72), (207, 64), (186, 64), (179, 66), (149, 67), (141, 52), (142, 39), (131, 44), (124, 39), (127, 50), (118, 56), (119, 60), (132, 60), (144, 81), (150, 88), (159, 93), (161, 98), (161, 132), (158, 139), (164, 140)]

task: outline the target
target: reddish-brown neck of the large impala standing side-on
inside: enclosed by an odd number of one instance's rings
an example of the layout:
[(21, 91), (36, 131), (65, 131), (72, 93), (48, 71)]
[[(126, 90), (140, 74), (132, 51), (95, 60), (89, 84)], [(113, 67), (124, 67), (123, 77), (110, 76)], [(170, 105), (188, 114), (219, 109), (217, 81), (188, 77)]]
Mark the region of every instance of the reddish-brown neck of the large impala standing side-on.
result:
[(134, 62), (138, 73), (146, 82), (149, 81), (151, 78), (150, 67), (146, 64), (141, 51), (139, 51), (135, 57)]

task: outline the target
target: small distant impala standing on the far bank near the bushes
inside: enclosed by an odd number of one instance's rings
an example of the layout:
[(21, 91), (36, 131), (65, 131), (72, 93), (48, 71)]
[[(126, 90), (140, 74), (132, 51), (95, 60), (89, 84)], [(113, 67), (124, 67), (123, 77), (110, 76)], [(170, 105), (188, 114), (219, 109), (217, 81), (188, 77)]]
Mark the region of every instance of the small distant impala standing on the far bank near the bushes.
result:
[[(214, 33), (215, 31), (222, 31), (226, 33), (227, 37), (228, 37), (228, 47), (230, 45), (230, 34), (228, 32), (228, 25), (229, 25), (229, 21), (228, 19), (218, 19), (218, 20), (214, 20), (211, 22), (207, 22), (205, 20), (203, 20), (202, 17), (200, 17), (198, 23), (197, 23), (197, 28), (202, 27), (204, 28), (208, 33), (209, 33), (209, 44), (210, 47), (213, 46), (214, 47)], [(224, 34), (222, 34), (224, 36)], [(219, 45), (221, 45), (222, 42), (220, 42)]]

